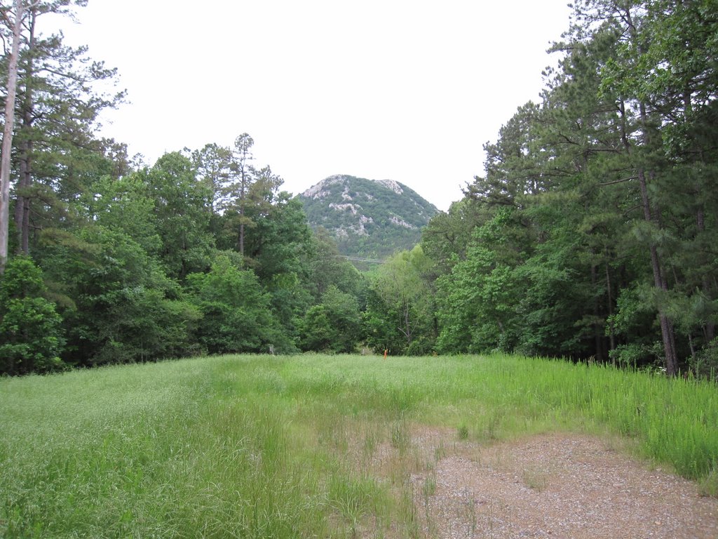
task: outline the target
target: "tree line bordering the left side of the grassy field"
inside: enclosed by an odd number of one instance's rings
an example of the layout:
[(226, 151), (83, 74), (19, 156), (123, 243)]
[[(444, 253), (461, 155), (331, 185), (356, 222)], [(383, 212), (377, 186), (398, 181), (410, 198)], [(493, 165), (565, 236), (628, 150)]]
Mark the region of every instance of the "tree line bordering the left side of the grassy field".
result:
[(335, 344), (342, 326), (315, 342), (305, 318), (312, 306), (345, 304), (358, 318), (362, 277), (309, 229), (271, 167), (256, 165), (251, 136), (151, 166), (97, 137), (98, 116), (124, 92), (105, 95), (96, 83), (113, 82), (116, 70), (41, 32), (45, 15), (85, 3), (0, 6), (0, 372), (349, 349)]

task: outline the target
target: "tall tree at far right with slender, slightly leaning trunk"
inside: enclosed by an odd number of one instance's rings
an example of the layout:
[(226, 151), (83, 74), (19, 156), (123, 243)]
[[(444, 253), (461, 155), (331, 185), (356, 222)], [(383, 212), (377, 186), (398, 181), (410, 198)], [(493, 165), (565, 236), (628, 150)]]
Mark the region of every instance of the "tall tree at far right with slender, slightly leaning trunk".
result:
[[(714, 9), (700, 2), (587, 0), (575, 10), (586, 21), (572, 43), (615, 36), (612, 55), (597, 70), (600, 95), (615, 110), (624, 191), (640, 210), (633, 234), (648, 252), (663, 364), (676, 374), (694, 341), (714, 331), (715, 268), (703, 252), (714, 226), (715, 65)], [(620, 178), (614, 181), (618, 181)], [(698, 272), (694, 268), (700, 267)], [(694, 305), (690, 315), (681, 306)], [(686, 346), (686, 341), (688, 346)]]

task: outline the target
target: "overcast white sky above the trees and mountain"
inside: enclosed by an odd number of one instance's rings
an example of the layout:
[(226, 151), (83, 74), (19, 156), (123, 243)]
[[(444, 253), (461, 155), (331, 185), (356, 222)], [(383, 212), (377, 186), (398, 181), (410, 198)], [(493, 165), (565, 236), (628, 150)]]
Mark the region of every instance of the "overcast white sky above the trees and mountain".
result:
[(90, 0), (64, 32), (118, 68), (103, 134), (150, 165), (247, 132), (292, 193), (388, 178), (446, 210), (538, 99), (567, 1)]

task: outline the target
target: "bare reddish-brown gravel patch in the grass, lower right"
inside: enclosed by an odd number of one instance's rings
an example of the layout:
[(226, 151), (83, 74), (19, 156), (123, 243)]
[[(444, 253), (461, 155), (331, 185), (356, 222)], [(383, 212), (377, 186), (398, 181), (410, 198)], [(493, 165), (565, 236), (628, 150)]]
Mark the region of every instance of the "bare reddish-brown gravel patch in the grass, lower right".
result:
[[(426, 538), (718, 538), (718, 499), (608, 440), (552, 433), (482, 446), (426, 428), (410, 438), (409, 486)], [(381, 474), (396, 448), (377, 449)]]

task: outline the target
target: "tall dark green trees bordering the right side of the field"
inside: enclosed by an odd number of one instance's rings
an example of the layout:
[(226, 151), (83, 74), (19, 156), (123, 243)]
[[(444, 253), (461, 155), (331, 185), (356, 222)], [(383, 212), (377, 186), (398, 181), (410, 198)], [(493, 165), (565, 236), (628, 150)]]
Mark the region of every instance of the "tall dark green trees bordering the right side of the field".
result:
[(582, 0), (434, 219), (437, 349), (717, 366), (718, 4)]

